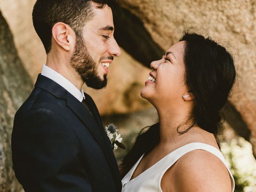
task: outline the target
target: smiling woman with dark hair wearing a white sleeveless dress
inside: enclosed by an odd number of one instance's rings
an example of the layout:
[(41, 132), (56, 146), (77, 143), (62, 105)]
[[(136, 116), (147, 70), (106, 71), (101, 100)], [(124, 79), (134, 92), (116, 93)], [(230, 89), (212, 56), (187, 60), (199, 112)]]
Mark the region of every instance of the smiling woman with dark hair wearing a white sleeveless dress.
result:
[(141, 96), (159, 123), (139, 134), (125, 156), (122, 192), (233, 192), (220, 152), (220, 110), (236, 79), (231, 54), (210, 38), (184, 32), (151, 63)]

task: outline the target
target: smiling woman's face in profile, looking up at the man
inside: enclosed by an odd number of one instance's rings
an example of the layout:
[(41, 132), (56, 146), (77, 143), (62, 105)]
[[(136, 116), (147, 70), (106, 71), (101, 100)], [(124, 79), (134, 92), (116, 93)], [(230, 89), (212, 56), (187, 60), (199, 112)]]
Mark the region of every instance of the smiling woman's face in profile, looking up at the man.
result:
[(184, 41), (169, 48), (162, 59), (153, 61), (150, 66), (151, 80), (145, 82), (140, 95), (153, 105), (183, 101), (188, 89), (184, 82)]

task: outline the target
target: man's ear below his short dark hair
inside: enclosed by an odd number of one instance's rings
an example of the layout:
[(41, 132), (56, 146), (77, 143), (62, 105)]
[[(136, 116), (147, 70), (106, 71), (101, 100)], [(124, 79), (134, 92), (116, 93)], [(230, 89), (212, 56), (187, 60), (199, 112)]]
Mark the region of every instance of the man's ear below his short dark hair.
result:
[(74, 48), (76, 34), (70, 26), (58, 22), (52, 27), (52, 38), (64, 50), (70, 51)]

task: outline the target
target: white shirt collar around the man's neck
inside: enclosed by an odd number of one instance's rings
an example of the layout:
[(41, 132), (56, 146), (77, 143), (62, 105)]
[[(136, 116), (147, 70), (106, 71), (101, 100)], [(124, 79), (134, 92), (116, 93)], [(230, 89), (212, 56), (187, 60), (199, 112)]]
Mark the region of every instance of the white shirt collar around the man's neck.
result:
[(75, 98), (77, 98), (80, 102), (82, 102), (83, 99), (85, 98), (83, 89), (79, 90), (69, 80), (64, 78), (64, 76), (54, 71), (52, 68), (46, 66), (45, 64), (42, 68), (41, 75), (46, 76), (51, 80), (55, 81), (56, 83), (58, 83), (60, 86), (66, 89), (70, 94), (72, 94)]

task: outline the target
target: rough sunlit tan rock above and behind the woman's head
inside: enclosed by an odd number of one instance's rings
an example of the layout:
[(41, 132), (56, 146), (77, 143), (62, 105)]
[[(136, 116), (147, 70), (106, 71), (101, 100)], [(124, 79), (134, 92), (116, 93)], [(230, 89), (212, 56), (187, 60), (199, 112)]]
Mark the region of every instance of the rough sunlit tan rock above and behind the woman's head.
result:
[(231, 46), (238, 79), (230, 102), (251, 132), (250, 142), (256, 156), (256, 2), (122, 0), (118, 4), (137, 16), (164, 50), (190, 26), (196, 26), (224, 46)]

